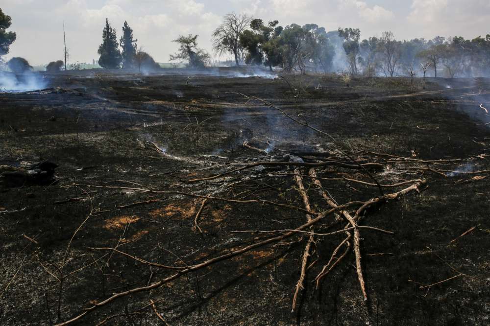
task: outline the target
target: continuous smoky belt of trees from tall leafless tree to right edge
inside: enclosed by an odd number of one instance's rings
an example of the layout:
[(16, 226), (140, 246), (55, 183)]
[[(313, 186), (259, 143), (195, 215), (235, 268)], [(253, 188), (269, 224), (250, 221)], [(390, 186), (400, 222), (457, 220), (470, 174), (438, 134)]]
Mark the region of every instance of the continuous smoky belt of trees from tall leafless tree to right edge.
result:
[(326, 32), (317, 24), (278, 25), (246, 15), (228, 14), (214, 31), (217, 53), (234, 56), (236, 65), (265, 65), (286, 71), (339, 72), (361, 76), (448, 77), (489, 75), (490, 34), (472, 40), (463, 37), (410, 41), (396, 40), (391, 31), (361, 39), (358, 28)]

